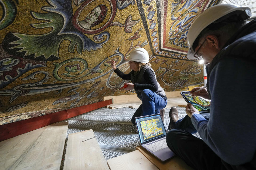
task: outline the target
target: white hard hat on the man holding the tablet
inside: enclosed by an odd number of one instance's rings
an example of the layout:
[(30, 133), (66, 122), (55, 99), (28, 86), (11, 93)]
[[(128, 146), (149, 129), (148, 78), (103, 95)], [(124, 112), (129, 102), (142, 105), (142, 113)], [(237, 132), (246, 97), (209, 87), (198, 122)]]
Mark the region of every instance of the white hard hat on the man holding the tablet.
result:
[[(189, 51), (187, 52), (188, 59), (197, 59), (193, 55), (195, 54), (192, 46), (198, 35), (205, 29), (208, 25), (218, 20), (219, 18), (233, 12), (233, 11), (245, 11), (247, 18), (251, 16), (251, 9), (249, 7), (238, 7), (231, 4), (221, 4), (215, 5), (208, 8), (199, 14), (191, 24), (189, 31), (187, 33), (187, 44), (189, 45)], [(246, 19), (247, 19), (246, 18)]]

